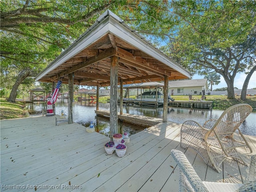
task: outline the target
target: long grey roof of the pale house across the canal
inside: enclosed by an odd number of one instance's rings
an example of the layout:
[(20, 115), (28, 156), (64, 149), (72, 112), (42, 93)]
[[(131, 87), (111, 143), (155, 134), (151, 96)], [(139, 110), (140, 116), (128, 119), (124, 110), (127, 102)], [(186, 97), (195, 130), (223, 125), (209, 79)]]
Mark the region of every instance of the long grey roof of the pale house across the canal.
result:
[(206, 86), (206, 88), (208, 88), (207, 79), (190, 79), (190, 80), (178, 80), (178, 81), (169, 82), (169, 88), (197, 87), (197, 86)]

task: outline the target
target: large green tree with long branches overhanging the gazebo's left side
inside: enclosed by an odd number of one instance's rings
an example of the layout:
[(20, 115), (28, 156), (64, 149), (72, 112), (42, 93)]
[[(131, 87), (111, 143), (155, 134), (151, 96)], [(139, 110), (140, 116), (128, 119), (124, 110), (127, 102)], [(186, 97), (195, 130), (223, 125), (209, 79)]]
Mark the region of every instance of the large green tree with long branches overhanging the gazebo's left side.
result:
[(4, 0), (0, 9), (1, 65), (18, 69), (10, 102), (15, 102), (24, 79), (45, 68), (107, 9), (149, 39), (168, 34), (167, 27), (160, 30), (168, 16), (167, 1)]

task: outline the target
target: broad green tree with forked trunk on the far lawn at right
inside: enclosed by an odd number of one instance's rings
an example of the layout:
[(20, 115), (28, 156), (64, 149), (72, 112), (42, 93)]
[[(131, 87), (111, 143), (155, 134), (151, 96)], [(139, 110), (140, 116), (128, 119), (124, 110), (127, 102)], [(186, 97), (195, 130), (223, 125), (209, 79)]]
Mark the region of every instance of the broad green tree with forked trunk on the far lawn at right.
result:
[(256, 68), (255, 10), (256, 1), (172, 1), (172, 19), (179, 21), (168, 44), (172, 57), (193, 73), (223, 76), (227, 98), (235, 99), (236, 74)]

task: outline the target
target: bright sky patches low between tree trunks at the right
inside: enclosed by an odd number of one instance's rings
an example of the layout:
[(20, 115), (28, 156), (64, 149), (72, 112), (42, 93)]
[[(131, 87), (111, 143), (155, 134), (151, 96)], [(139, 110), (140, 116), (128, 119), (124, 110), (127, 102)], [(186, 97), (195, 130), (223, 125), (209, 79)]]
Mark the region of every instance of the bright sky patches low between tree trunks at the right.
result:
[[(246, 76), (247, 75), (244, 73), (236, 74), (236, 77), (234, 80), (234, 87), (237, 87), (238, 89), (242, 89)], [(192, 77), (192, 79), (202, 79), (202, 78), (204, 78), (204, 76), (200, 76), (197, 74)], [(216, 88), (222, 88), (222, 87), (227, 87), (227, 84), (226, 84), (224, 78), (222, 76), (220, 76), (220, 83), (218, 85), (213, 85), (212, 90), (214, 90)], [(252, 74), (247, 89), (252, 89), (252, 88), (256, 88), (256, 72), (254, 72)]]

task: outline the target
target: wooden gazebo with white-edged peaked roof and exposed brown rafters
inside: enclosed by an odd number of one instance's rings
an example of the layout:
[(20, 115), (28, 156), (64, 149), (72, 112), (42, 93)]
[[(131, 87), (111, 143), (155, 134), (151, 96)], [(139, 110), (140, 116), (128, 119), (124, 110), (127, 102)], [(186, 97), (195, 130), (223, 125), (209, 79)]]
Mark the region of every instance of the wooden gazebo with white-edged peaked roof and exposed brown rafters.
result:
[[(73, 85), (110, 86), (110, 132), (118, 132), (118, 84), (164, 81), (163, 122), (167, 122), (168, 81), (190, 73), (132, 30), (110, 10), (36, 76), (36, 81), (69, 84), (68, 123), (72, 123)], [(122, 114), (122, 99), (120, 100)]]

